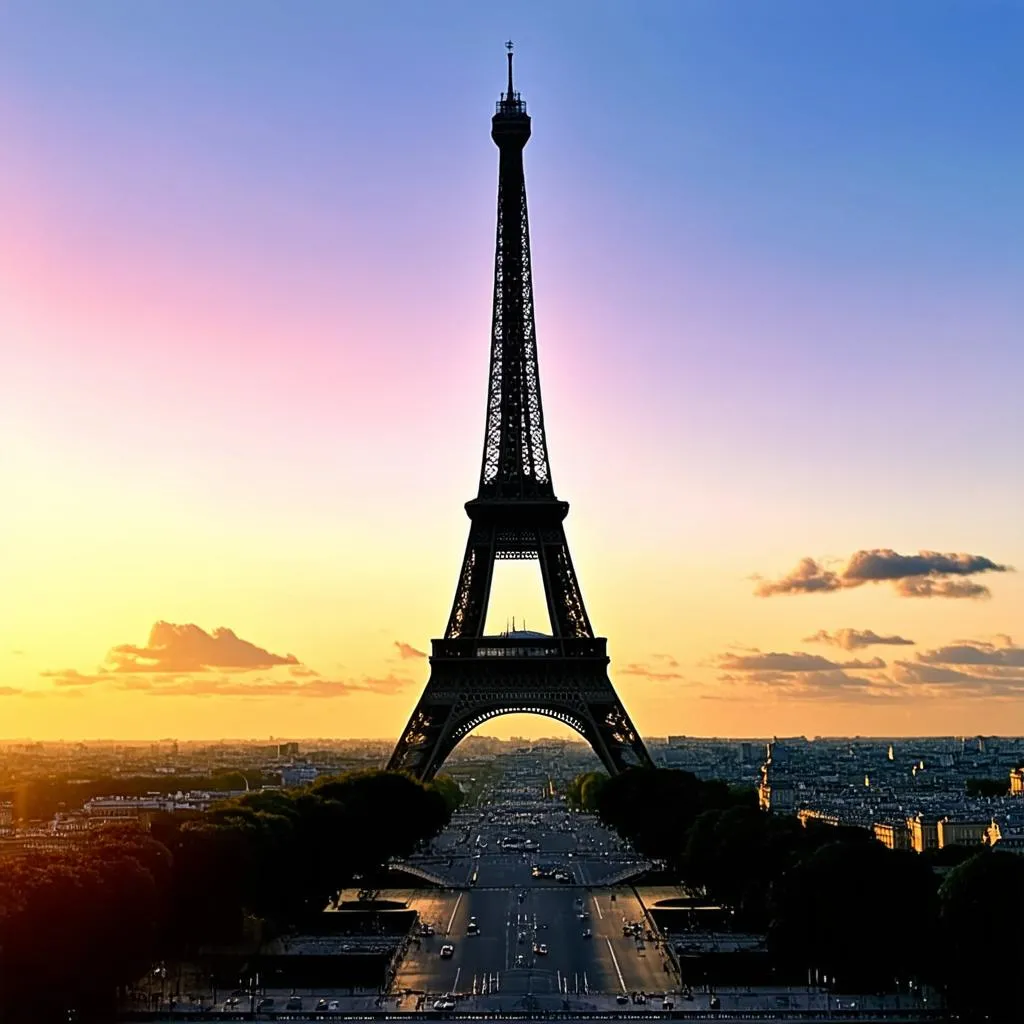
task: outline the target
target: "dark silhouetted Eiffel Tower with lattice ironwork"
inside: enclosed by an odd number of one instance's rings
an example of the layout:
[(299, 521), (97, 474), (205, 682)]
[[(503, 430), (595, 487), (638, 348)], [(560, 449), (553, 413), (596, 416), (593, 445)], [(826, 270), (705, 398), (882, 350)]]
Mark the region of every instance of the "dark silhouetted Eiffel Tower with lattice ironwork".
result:
[[(583, 736), (611, 774), (650, 757), (608, 679), (606, 641), (594, 636), (562, 522), (568, 502), (551, 483), (537, 366), (529, 225), (522, 151), (526, 104), (512, 86), (497, 104), (498, 241), (490, 377), (477, 496), (444, 637), (431, 641), (430, 678), (389, 770), (430, 779), (455, 746), (499, 715), (545, 715)], [(495, 561), (538, 559), (551, 634), (483, 634)]]

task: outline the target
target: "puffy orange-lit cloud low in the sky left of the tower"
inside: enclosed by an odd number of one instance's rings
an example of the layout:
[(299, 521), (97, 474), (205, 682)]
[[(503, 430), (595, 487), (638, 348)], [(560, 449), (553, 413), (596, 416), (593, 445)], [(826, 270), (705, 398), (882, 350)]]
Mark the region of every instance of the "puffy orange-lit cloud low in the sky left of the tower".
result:
[(224, 627), (207, 633), (191, 624), (163, 622), (150, 631), (146, 646), (121, 644), (111, 650), (108, 658), (114, 672), (252, 671), (299, 664), (294, 654), (271, 654)]

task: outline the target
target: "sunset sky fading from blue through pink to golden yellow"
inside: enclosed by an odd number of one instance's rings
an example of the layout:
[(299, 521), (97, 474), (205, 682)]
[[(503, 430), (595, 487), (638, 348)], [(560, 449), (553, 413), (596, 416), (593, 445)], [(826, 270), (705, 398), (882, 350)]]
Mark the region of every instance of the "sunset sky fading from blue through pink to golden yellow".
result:
[[(0, 736), (397, 735), (479, 471), (509, 37), (553, 477), (641, 731), (1024, 732), (1024, 4), (2, 0)], [(492, 625), (541, 626), (501, 568)]]

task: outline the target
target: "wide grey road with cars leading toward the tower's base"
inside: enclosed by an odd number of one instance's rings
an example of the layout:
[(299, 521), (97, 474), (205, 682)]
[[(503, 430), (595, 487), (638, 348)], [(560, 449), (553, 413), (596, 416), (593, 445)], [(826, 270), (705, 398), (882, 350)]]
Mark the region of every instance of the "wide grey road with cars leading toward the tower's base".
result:
[[(624, 919), (643, 919), (636, 894), (600, 885), (639, 858), (591, 816), (542, 800), (539, 782), (530, 788), (499, 788), (489, 805), (458, 814), (434, 844), (440, 859), (431, 870), (460, 888), (415, 900), (434, 935), (410, 949), (391, 990), (453, 993), (461, 1009), (474, 999), (481, 1009), (582, 1009), (607, 1004), (595, 1001), (601, 994), (674, 989), (659, 944), (624, 935)], [(530, 849), (503, 849), (503, 839)], [(570, 881), (535, 878), (535, 864)], [(444, 958), (449, 944), (454, 952)]]

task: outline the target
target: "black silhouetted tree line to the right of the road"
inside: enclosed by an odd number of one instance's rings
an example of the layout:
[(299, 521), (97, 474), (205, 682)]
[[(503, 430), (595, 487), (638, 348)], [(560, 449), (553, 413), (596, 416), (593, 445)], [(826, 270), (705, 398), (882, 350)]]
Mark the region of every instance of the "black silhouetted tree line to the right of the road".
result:
[(927, 982), (964, 1014), (1006, 1014), (1016, 999), (1022, 857), (890, 850), (866, 828), (805, 827), (760, 811), (753, 791), (674, 769), (589, 773), (568, 797), (731, 910), (737, 928), (765, 933), (793, 974), (862, 991)]

